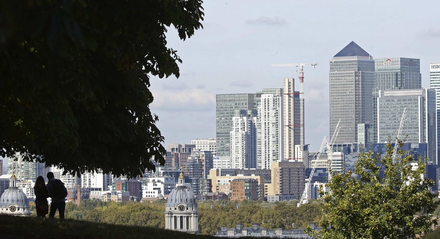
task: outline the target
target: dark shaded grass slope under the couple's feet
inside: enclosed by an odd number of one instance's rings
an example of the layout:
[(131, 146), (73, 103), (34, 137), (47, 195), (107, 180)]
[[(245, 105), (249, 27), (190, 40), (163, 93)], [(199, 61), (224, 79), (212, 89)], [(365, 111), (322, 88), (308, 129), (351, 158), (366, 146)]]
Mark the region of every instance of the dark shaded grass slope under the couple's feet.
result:
[(0, 215), (0, 238), (218, 238), (142, 226)]

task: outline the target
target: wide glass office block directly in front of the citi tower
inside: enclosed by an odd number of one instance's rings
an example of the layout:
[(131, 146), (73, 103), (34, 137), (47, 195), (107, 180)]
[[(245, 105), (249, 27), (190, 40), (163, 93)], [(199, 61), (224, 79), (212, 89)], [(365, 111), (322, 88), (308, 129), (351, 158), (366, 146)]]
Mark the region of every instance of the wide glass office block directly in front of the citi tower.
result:
[(381, 90), (378, 98), (378, 140), (393, 140), (407, 109), (402, 136), (412, 148), (427, 144), (428, 158), (437, 164), (435, 89)]

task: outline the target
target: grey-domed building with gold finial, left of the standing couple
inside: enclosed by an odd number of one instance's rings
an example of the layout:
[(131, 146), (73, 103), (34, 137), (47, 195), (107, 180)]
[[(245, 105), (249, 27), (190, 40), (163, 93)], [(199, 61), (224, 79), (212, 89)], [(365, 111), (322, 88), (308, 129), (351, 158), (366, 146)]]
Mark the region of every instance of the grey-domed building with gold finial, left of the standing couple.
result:
[(17, 187), (17, 177), (14, 171), (9, 180), (9, 188), (0, 196), (0, 213), (14, 216), (29, 216), (31, 214), (28, 198)]

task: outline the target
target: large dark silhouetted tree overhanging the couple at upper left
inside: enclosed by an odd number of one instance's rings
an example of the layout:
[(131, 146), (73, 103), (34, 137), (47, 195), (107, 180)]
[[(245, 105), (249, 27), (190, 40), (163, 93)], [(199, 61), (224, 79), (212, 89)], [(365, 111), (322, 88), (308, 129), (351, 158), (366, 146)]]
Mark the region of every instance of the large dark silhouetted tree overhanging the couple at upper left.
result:
[(149, 74), (179, 77), (165, 32), (185, 40), (203, 16), (201, 0), (2, 1), (0, 155), (78, 175), (164, 164)]

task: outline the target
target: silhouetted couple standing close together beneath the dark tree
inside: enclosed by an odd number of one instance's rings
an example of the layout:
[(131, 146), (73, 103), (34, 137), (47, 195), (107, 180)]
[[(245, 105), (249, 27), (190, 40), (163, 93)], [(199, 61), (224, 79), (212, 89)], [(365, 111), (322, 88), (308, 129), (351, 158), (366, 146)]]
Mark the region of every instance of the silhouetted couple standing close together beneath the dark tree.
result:
[[(49, 218), (53, 218), (55, 216), (55, 211), (58, 209), (59, 218), (64, 219), (64, 211), (66, 209), (66, 196), (64, 192), (66, 191), (64, 184), (61, 181), (57, 180), (53, 175), (53, 172), (47, 173), (47, 185), (44, 182), (43, 176), (38, 176), (35, 181), (34, 193), (35, 193), (35, 208), (37, 209), (38, 217), (46, 217), (46, 214), (49, 213), (49, 206), (47, 204), (47, 198), (50, 197), (52, 199), (52, 203), (50, 204), (50, 213)], [(61, 186), (64, 188), (62, 189)]]

